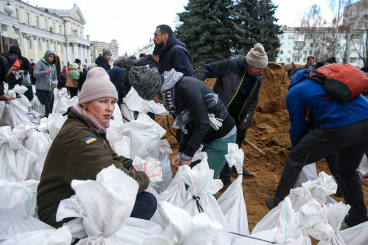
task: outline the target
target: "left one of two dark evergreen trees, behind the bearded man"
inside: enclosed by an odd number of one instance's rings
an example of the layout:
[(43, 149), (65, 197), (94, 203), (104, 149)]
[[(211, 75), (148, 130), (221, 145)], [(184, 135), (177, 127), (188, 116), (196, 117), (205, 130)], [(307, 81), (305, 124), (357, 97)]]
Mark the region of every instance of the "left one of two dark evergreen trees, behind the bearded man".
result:
[(231, 56), (231, 0), (189, 0), (179, 13), (176, 35), (187, 45), (193, 66)]

